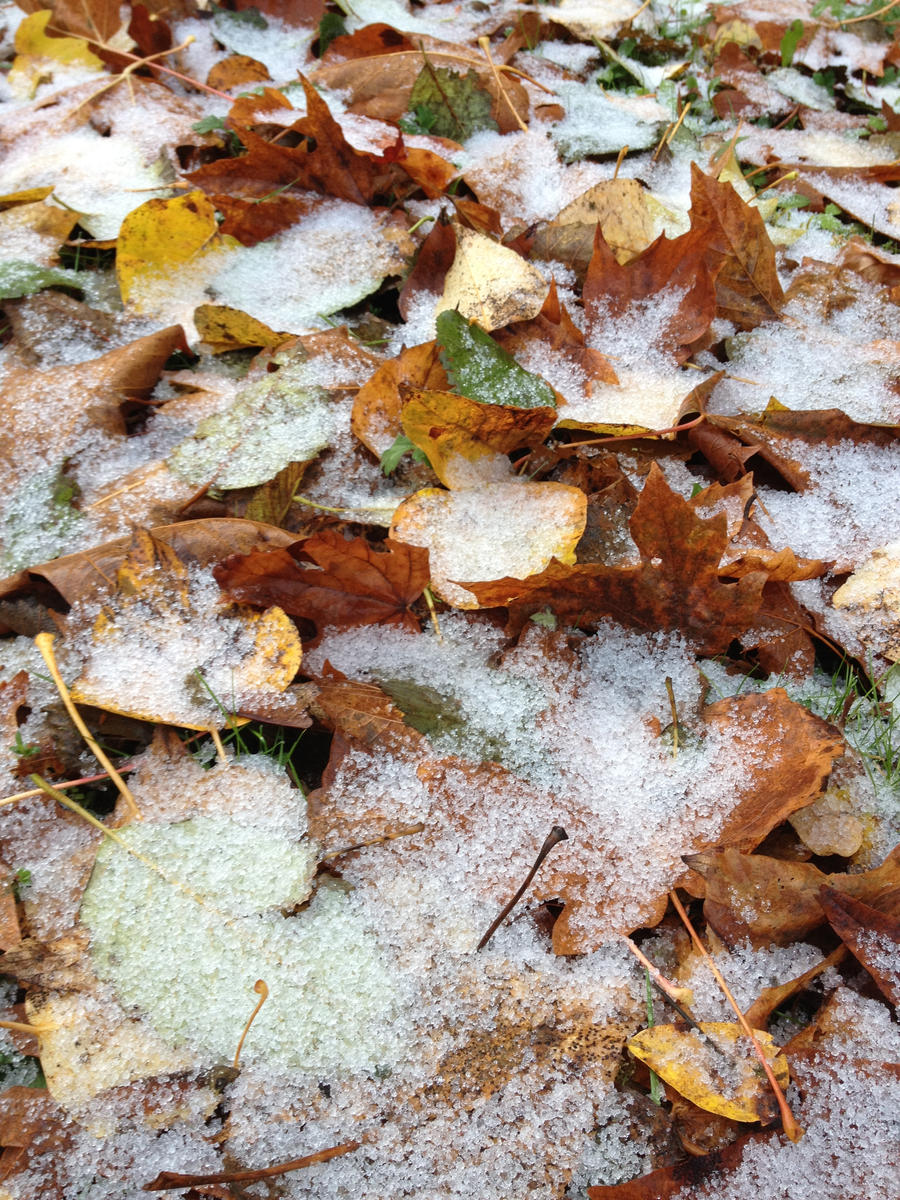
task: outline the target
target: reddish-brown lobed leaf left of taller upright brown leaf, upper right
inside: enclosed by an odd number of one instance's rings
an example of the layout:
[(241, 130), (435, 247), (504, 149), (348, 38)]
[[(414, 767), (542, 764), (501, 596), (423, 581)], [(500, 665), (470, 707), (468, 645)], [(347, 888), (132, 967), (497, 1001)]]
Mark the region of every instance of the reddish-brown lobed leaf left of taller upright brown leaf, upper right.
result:
[(695, 222), (680, 238), (660, 236), (622, 265), (598, 226), (582, 293), (588, 320), (616, 319), (650, 296), (680, 290), (678, 308), (661, 331), (658, 348), (686, 356), (686, 348), (706, 334), (715, 317), (718, 266), (707, 259), (708, 235), (708, 228)]

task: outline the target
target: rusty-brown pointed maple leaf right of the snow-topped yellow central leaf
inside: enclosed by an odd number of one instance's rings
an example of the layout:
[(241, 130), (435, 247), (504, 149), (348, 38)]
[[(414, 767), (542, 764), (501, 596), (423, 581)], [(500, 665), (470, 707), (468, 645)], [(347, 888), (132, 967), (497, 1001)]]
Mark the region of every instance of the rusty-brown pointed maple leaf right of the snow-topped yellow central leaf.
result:
[(512, 629), (550, 608), (576, 624), (614, 617), (637, 629), (679, 630), (701, 654), (724, 650), (754, 619), (766, 582), (760, 571), (720, 582), (725, 517), (697, 516), (654, 463), (629, 526), (641, 552), (637, 566), (552, 563), (526, 586), (512, 578), (464, 586), (482, 607), (509, 608)]

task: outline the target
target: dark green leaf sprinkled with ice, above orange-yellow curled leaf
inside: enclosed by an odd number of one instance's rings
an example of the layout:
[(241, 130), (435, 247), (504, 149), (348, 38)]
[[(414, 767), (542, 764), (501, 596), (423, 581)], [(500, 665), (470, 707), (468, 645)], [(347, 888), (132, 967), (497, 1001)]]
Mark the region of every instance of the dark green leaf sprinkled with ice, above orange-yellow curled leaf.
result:
[(556, 408), (550, 384), (526, 371), (475, 322), (455, 308), (437, 319), (440, 361), (450, 385), (480, 404), (514, 408)]

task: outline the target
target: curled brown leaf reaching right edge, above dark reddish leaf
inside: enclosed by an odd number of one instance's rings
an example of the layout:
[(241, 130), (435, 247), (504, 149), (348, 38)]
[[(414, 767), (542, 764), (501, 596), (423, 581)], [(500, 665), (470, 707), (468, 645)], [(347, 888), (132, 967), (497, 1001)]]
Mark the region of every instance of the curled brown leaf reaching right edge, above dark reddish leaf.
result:
[(900, 916), (900, 846), (881, 866), (858, 875), (826, 875), (812, 863), (732, 848), (689, 854), (685, 862), (706, 880), (703, 914), (730, 944), (749, 938), (754, 946), (786, 946), (805, 937), (826, 919), (823, 886)]

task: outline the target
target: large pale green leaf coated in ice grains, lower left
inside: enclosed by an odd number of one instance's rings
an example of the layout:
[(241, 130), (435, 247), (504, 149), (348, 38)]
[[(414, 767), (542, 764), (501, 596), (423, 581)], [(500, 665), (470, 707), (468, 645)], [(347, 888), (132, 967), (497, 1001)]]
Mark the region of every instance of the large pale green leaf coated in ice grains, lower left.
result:
[(122, 836), (166, 877), (108, 842), (82, 920), (98, 976), (167, 1042), (203, 1061), (229, 1060), (262, 978), (269, 998), (247, 1060), (316, 1074), (396, 1052), (395, 988), (344, 892), (323, 886), (296, 916), (280, 911), (310, 895), (313, 844), (224, 817), (130, 826)]

